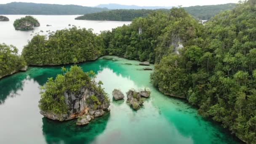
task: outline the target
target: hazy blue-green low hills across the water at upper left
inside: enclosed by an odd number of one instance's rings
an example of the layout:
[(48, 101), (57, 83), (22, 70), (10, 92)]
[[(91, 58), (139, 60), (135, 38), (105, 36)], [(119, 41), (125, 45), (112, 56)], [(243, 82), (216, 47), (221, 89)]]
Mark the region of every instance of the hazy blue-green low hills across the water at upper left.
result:
[(108, 11), (107, 8), (85, 7), (80, 5), (56, 5), (43, 3), (7, 3), (0, 4), (0, 14), (25, 15), (81, 15)]

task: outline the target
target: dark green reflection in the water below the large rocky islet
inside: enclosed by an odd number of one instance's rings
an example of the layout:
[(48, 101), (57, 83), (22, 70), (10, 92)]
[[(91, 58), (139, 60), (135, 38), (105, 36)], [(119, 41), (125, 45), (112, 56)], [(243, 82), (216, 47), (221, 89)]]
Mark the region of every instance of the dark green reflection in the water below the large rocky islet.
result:
[(93, 141), (101, 134), (107, 125), (109, 113), (101, 118), (91, 120), (86, 126), (76, 125), (76, 120), (58, 122), (45, 117), (43, 121), (43, 135), (47, 143), (84, 144)]

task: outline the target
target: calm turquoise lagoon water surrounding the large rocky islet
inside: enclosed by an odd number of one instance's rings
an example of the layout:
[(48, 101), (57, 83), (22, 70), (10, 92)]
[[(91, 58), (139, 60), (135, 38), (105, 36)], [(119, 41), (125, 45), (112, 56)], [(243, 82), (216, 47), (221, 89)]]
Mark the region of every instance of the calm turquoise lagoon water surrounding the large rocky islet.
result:
[[(108, 56), (110, 57), (110, 56)], [(61, 67), (29, 67), (0, 80), (0, 144), (238, 144), (219, 124), (204, 120), (184, 101), (158, 92), (150, 83), (152, 71), (141, 70), (139, 61), (112, 56), (79, 64), (96, 72), (111, 99), (107, 115), (87, 126), (75, 120), (58, 122), (39, 113), (40, 85), (61, 73)], [(132, 65), (128, 65), (130, 63)], [(66, 65), (65, 67), (70, 67)], [(151, 65), (150, 67), (153, 67)], [(125, 100), (113, 101), (112, 90), (149, 88), (151, 97), (138, 111)]]

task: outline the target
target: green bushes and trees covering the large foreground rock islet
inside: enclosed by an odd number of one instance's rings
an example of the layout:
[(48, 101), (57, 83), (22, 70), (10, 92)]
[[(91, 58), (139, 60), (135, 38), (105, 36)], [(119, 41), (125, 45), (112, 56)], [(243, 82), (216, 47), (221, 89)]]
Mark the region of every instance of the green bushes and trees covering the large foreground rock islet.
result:
[(63, 75), (57, 75), (55, 80), (52, 77), (48, 78), (47, 83), (41, 87), (39, 107), (42, 111), (56, 115), (67, 114), (69, 108), (65, 103), (64, 93), (79, 95), (82, 87), (95, 93), (90, 96), (88, 104), (98, 107), (102, 103), (109, 103), (107, 93), (100, 85), (96, 84), (88, 73), (83, 72), (81, 67), (74, 65), (69, 70), (62, 67), (62, 71), (65, 72)]

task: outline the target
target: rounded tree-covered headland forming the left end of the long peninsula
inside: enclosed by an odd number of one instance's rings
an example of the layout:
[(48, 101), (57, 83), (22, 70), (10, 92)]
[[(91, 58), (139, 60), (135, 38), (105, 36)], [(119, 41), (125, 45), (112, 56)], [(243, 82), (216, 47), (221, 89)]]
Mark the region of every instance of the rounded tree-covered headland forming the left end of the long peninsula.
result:
[(92, 29), (57, 30), (49, 39), (36, 35), (22, 51), (29, 65), (59, 65), (95, 60), (104, 54), (103, 42)]

